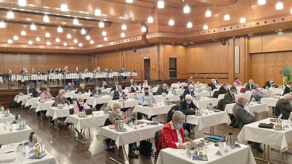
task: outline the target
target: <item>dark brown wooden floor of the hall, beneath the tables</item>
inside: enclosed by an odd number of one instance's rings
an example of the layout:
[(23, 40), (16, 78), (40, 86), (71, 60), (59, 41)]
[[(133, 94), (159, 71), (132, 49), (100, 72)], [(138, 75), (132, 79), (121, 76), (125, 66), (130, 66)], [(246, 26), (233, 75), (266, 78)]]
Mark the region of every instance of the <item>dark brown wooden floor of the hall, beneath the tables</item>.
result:
[[(130, 113), (132, 112), (131, 109)], [(85, 130), (85, 134), (83, 135), (83, 142), (86, 144), (83, 145), (78, 141), (74, 140), (74, 134), (69, 136), (70, 125), (61, 125), (59, 122), (60, 131), (53, 128), (53, 125), (49, 123), (47, 117), (45, 117), (45, 121), (41, 121), (36, 116), (36, 113), (29, 115), (28, 109), (22, 110), (20, 108), (13, 108), (10, 110), (12, 114), (19, 112), (21, 114), (22, 119), (26, 120), (26, 124), (33, 129), (37, 135), (38, 141), (45, 142), (45, 149), (53, 155), (56, 160), (60, 164), (90, 164), (90, 163), (113, 163), (109, 157), (114, 157), (114, 150), (105, 151), (106, 144), (104, 141), (97, 141), (95, 134), (97, 133), (99, 127), (90, 128), (91, 136), (89, 137), (88, 129)], [(257, 120), (262, 120), (267, 118), (265, 116), (265, 112), (258, 113), (256, 115)], [(155, 118), (154, 118), (155, 119)], [(156, 120), (156, 119), (155, 119)], [(163, 121), (163, 115), (158, 117), (159, 121)], [(195, 127), (195, 137), (201, 138), (206, 136), (203, 134), (204, 131), (209, 131), (210, 128), (205, 128), (203, 130), (198, 131), (198, 127)], [(214, 131), (216, 134), (225, 135), (228, 131), (232, 131), (235, 139), (237, 140), (237, 136), (239, 134), (239, 129), (233, 129), (226, 124), (216, 125), (214, 127)], [(154, 151), (154, 138), (151, 138), (151, 142), (153, 144)], [(242, 143), (244, 144), (244, 143)], [(140, 164), (152, 164), (153, 157), (145, 157), (140, 155), (139, 158), (133, 159), (128, 158), (127, 156), (127, 146), (125, 146), (126, 150), (119, 149), (119, 161), (121, 163), (140, 163)], [(289, 144), (290, 151), (292, 150), (292, 144)], [(255, 157), (263, 158), (263, 154), (257, 153), (253, 151), (253, 155)], [(270, 151), (270, 160), (272, 162), (276, 162), (279, 164), (292, 163), (292, 155), (287, 155), (284, 153), (279, 153), (275, 151)], [(261, 162), (256, 160), (258, 164), (262, 164), (265, 162)]]

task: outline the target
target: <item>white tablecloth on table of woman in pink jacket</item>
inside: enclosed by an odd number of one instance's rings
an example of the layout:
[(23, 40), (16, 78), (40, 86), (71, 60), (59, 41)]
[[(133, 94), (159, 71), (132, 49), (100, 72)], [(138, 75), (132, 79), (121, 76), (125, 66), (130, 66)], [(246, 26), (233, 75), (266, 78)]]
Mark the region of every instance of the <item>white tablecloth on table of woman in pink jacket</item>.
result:
[(108, 118), (108, 114), (104, 114), (103, 111), (95, 111), (92, 112), (92, 115), (88, 115), (85, 118), (78, 117), (77, 114), (72, 114), (67, 117), (66, 122), (71, 122), (76, 125), (78, 131), (81, 129), (103, 126), (105, 124), (105, 120)]

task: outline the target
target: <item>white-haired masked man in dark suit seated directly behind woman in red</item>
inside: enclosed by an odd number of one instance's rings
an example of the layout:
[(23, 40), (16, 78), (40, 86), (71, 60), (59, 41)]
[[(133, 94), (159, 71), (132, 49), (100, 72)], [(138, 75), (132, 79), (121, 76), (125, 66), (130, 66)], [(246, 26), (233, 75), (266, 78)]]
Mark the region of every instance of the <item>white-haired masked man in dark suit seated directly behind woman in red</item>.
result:
[[(187, 94), (185, 96), (185, 99), (183, 101), (180, 102), (179, 104), (179, 111), (183, 112), (186, 109), (190, 109), (190, 110), (195, 110), (197, 108), (197, 106), (193, 103), (192, 101), (192, 96)], [(187, 132), (190, 132), (190, 124), (189, 123), (185, 123), (183, 125), (184, 130), (187, 130)]]

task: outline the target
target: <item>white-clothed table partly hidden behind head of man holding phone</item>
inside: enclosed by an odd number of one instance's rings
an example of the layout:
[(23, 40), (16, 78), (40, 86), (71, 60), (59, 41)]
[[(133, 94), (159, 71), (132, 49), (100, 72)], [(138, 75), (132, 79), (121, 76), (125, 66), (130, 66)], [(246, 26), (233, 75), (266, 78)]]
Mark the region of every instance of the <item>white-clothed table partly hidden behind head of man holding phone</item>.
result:
[[(229, 113), (229, 114), (233, 114), (233, 106), (235, 105), (235, 103), (232, 104), (226, 104), (225, 106), (225, 112)], [(269, 107), (266, 103), (261, 103), (261, 104), (257, 104), (255, 103), (255, 105), (250, 105), (250, 106), (245, 106), (244, 107), (245, 110), (247, 110), (247, 112), (265, 112), (265, 111), (269, 111)]]

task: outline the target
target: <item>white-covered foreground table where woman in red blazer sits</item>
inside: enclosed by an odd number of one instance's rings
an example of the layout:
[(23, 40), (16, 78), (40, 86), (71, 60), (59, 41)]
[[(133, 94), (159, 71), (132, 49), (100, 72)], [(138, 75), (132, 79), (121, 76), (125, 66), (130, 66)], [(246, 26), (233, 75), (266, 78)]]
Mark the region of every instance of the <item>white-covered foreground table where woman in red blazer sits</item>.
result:
[[(201, 139), (203, 138), (196, 139), (195, 141), (200, 141)], [(224, 157), (216, 155), (219, 147), (215, 147), (214, 143), (207, 146), (208, 161), (192, 160), (192, 158), (182, 155), (186, 153), (185, 149), (166, 148), (160, 150), (156, 164), (256, 164), (252, 151), (247, 145), (240, 144), (241, 148), (231, 149), (232, 152)]]

